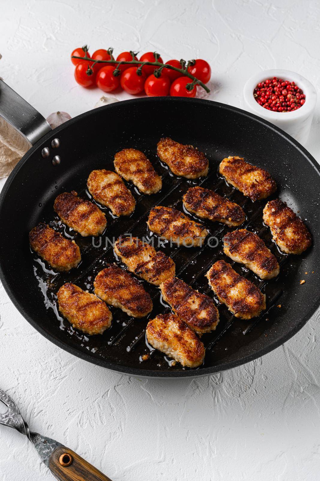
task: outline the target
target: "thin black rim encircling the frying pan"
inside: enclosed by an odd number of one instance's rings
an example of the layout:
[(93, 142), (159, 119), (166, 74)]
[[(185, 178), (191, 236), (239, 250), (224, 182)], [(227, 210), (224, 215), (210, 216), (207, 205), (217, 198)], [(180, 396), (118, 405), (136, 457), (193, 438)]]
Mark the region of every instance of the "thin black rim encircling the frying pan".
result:
[[(163, 102), (164, 100), (172, 103), (202, 103), (205, 105), (214, 105), (218, 108), (222, 108), (224, 110), (229, 110), (231, 112), (234, 112), (236, 114), (241, 114), (244, 117), (249, 117), (254, 119), (255, 121), (259, 122), (265, 127), (268, 127), (269, 129), (273, 130), (277, 135), (280, 135), (286, 139), (286, 141), (290, 142), (295, 146), (296, 149), (298, 149), (303, 156), (306, 158), (306, 160), (313, 166), (315, 171), (320, 177), (320, 165), (316, 162), (314, 157), (303, 147), (300, 145), (295, 139), (293, 139), (290, 135), (286, 134), (283, 130), (281, 130), (279, 127), (274, 126), (270, 122), (262, 119), (261, 117), (251, 114), (247, 111), (244, 111), (238, 107), (234, 107), (232, 105), (227, 105), (221, 102), (216, 102), (216, 101), (211, 101), (211, 100), (206, 100), (206, 99), (186, 99), (186, 98), (177, 98), (177, 97), (153, 97), (153, 98), (140, 98), (140, 99), (130, 99), (126, 101), (121, 101), (121, 104), (139, 104), (143, 102)], [(117, 109), (119, 105), (119, 102), (106, 105), (103, 107), (99, 107), (99, 109)], [(36, 144), (29, 149), (28, 152), (26, 152), (23, 156), (23, 158), (18, 162), (18, 164), (14, 167), (12, 170), (10, 176), (6, 180), (1, 192), (0, 192), (0, 215), (1, 215), (1, 210), (4, 205), (4, 199), (6, 197), (7, 191), (10, 189), (11, 183), (13, 178), (15, 177), (16, 173), (22, 168), (22, 166), (29, 160), (30, 156), (40, 147), (43, 146), (43, 144), (46, 142), (47, 139), (51, 138), (53, 135), (56, 136), (61, 130), (64, 130), (66, 127), (69, 125), (77, 122), (79, 119), (84, 118), (84, 117), (89, 117), (95, 113), (95, 109), (84, 112), (83, 114), (80, 114), (76, 117), (73, 117), (69, 121), (65, 122), (64, 124), (60, 125), (56, 129), (53, 129), (51, 132), (48, 132), (44, 137), (39, 139)], [(14, 304), (14, 306), (18, 309), (20, 314), (31, 324), (40, 334), (42, 334), (47, 340), (52, 342), (53, 344), (57, 345), (59, 348), (67, 351), (70, 354), (73, 354), (81, 359), (84, 359), (88, 362), (91, 362), (92, 364), (101, 366), (101, 367), (106, 367), (107, 369), (110, 369), (115, 372), (127, 374), (129, 376), (135, 376), (135, 377), (145, 377), (145, 378), (161, 378), (161, 379), (178, 379), (178, 378), (194, 378), (194, 377), (203, 377), (203, 376), (209, 376), (211, 374), (217, 373), (217, 372), (222, 372), (228, 369), (232, 369), (237, 366), (241, 366), (243, 364), (246, 364), (250, 361), (253, 361), (264, 354), (268, 354), (269, 352), (273, 351), (280, 345), (282, 345), (284, 342), (286, 342), (288, 339), (293, 337), (310, 319), (310, 317), (317, 311), (320, 305), (320, 294), (318, 298), (316, 298), (308, 309), (307, 313), (301, 318), (300, 322), (294, 326), (286, 335), (283, 335), (280, 337), (280, 339), (274, 341), (273, 343), (265, 346), (264, 348), (261, 348), (260, 350), (256, 351), (255, 353), (249, 354), (245, 357), (242, 357), (241, 359), (237, 359), (234, 361), (229, 361), (227, 363), (222, 362), (221, 365), (217, 366), (212, 366), (212, 367), (204, 367), (201, 369), (197, 370), (189, 370), (189, 371), (155, 371), (155, 370), (148, 370), (148, 369), (143, 369), (143, 368), (136, 368), (136, 367), (125, 367), (121, 365), (114, 364), (112, 362), (100, 359), (100, 358), (95, 358), (83, 351), (80, 351), (79, 349), (69, 346), (65, 342), (60, 341), (58, 338), (56, 338), (52, 333), (47, 332), (45, 329), (41, 327), (40, 324), (38, 324), (32, 316), (29, 316), (25, 310), (24, 306), (20, 302), (18, 296), (15, 295), (14, 291), (11, 289), (9, 286), (9, 283), (6, 280), (3, 267), (2, 267), (2, 260), (0, 259), (0, 280), (2, 282), (2, 285), (7, 292), (10, 300)]]

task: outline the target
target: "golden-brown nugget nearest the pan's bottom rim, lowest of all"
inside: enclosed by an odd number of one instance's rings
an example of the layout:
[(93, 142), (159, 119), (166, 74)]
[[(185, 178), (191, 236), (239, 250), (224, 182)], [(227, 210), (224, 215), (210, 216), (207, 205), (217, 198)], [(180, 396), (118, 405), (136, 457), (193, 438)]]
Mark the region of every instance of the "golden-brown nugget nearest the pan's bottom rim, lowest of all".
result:
[(205, 349), (196, 334), (174, 314), (159, 314), (146, 328), (147, 340), (155, 349), (172, 357), (182, 366), (198, 367)]

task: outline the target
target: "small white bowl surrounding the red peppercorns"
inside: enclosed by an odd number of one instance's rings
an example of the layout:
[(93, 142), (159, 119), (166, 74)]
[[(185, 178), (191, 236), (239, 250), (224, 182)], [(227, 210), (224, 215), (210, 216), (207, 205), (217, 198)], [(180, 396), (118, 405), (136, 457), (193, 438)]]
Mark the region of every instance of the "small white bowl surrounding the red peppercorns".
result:
[[(302, 89), (303, 93), (306, 95), (306, 101), (302, 107), (293, 112), (284, 113), (272, 112), (259, 105), (259, 103), (253, 97), (253, 90), (256, 88), (259, 82), (273, 77), (296, 82), (296, 85)], [(265, 70), (264, 72), (259, 72), (258, 74), (255, 74), (249, 78), (248, 82), (244, 86), (243, 96), (246, 103), (246, 108), (249, 110), (249, 112), (259, 115), (277, 127), (282, 128), (301, 144), (306, 143), (317, 102), (316, 89), (306, 78), (296, 74), (296, 72), (291, 72), (290, 70)]]

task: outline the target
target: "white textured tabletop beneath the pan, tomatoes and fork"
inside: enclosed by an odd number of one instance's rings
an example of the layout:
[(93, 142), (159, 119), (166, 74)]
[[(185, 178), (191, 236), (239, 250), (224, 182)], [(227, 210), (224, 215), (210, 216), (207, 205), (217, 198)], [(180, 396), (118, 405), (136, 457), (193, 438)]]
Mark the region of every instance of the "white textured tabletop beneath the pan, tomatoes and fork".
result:
[[(260, 69), (319, 83), (319, 3), (255, 1), (7, 1), (0, 76), (39, 112), (75, 116), (99, 90), (73, 79), (73, 48), (113, 46), (204, 58), (211, 99), (242, 106)], [(126, 94), (119, 99), (126, 99)], [(319, 106), (308, 150), (320, 158)], [(2, 184), (1, 184), (2, 185)], [(319, 313), (282, 347), (198, 380), (139, 380), (95, 367), (33, 329), (0, 291), (0, 386), (33, 430), (65, 443), (114, 481), (317, 481)], [(0, 427), (0, 480), (53, 479), (32, 445)]]

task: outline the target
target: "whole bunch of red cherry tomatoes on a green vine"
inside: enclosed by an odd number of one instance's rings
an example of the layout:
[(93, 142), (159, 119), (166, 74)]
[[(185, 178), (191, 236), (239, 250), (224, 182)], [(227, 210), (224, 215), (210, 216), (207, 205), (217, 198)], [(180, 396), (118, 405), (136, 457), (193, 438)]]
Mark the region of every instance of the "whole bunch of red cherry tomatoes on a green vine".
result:
[[(117, 59), (114, 59), (112, 51), (112, 48), (108, 50), (98, 49), (90, 57), (86, 45), (74, 49), (71, 57), (79, 58), (71, 58), (71, 61), (76, 66), (74, 76), (78, 84), (83, 87), (91, 87), (96, 83), (105, 92), (111, 92), (121, 85), (122, 89), (131, 95), (142, 93), (145, 90), (148, 96), (166, 96), (169, 94), (173, 97), (195, 97), (198, 82), (206, 91), (210, 91), (204, 84), (210, 80), (211, 68), (209, 63), (203, 59), (193, 60), (193, 65), (190, 65), (189, 62), (188, 72), (186, 72), (187, 63), (183, 59), (180, 61), (177, 59), (168, 60), (164, 64), (158, 53), (146, 52), (142, 54), (138, 61), (133, 51), (119, 53)], [(84, 57), (87, 57), (86, 60), (84, 60)], [(118, 63), (121, 62), (128, 63), (119, 65), (117, 69)], [(156, 62), (159, 65), (142, 66), (144, 62)], [(174, 67), (177, 70), (167, 68), (167, 66)], [(154, 71), (159, 68), (161, 75), (158, 76), (159, 72), (155, 72), (154, 75)], [(116, 75), (114, 75), (116, 69)], [(120, 75), (118, 76), (117, 73)], [(191, 78), (186, 75), (190, 75)]]

